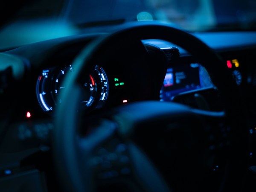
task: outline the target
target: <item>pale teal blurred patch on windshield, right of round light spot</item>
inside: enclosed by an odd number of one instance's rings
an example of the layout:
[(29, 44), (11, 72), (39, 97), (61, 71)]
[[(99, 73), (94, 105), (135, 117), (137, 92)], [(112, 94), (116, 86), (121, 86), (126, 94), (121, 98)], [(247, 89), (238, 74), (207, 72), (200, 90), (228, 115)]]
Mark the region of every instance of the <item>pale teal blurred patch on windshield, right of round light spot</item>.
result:
[(156, 20), (169, 21), (192, 31), (216, 25), (212, 0), (145, 1)]

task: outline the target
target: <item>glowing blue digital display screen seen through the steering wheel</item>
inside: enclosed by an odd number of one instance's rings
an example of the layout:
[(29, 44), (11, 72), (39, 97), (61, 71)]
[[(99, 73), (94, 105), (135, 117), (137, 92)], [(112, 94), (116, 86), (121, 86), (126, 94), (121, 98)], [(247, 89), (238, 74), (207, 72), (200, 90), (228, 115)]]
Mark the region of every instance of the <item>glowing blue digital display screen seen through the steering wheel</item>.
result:
[(179, 93), (210, 87), (212, 83), (204, 67), (198, 63), (168, 68), (160, 92), (161, 101), (171, 101)]

